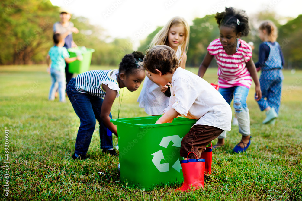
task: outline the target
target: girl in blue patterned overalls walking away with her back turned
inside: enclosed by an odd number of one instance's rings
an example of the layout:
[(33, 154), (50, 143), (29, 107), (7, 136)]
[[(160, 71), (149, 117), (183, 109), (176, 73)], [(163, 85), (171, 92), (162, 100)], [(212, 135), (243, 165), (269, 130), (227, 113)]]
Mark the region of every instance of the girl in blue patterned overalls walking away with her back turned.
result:
[(263, 42), (259, 46), (259, 61), (255, 64), (257, 71), (261, 70), (259, 82), (262, 98), (258, 105), (261, 111), (266, 111), (266, 118), (262, 123), (274, 124), (281, 101), (284, 57), (276, 42), (277, 28), (273, 22), (266, 20), (260, 25), (259, 37)]

